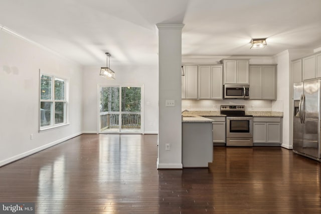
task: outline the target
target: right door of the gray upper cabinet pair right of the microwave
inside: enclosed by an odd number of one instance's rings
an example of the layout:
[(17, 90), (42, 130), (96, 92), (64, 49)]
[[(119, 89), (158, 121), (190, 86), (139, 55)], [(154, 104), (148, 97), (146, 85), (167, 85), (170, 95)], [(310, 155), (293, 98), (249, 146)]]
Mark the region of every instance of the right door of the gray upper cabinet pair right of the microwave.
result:
[(275, 66), (262, 67), (262, 99), (276, 99)]

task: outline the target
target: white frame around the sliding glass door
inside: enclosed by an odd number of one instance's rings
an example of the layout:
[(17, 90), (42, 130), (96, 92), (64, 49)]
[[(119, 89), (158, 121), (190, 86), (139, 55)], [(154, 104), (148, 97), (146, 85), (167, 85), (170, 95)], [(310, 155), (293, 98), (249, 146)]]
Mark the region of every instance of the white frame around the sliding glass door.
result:
[[(130, 84), (119, 84), (119, 85), (101, 85), (101, 84), (98, 84), (97, 85), (97, 131), (96, 133), (97, 134), (106, 134), (106, 132), (101, 132), (100, 131), (100, 88), (101, 87), (119, 87), (120, 88), (120, 93), (121, 94), (121, 88), (122, 87), (140, 87), (140, 132), (134, 132), (134, 133), (131, 133), (131, 132), (108, 132), (108, 134), (144, 134), (144, 85), (130, 85)], [(119, 102), (121, 103), (121, 99), (119, 100)], [(120, 108), (120, 106), (119, 106)], [(120, 115), (121, 115), (121, 109), (120, 110)], [(121, 129), (121, 128), (120, 128)]]

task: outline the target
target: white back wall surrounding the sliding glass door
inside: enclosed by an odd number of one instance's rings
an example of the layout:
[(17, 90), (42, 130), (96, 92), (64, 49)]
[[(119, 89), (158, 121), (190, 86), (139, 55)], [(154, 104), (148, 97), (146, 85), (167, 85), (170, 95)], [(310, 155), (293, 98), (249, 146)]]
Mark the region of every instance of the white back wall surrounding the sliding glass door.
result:
[[(156, 54), (155, 54), (155, 57)], [(112, 65), (112, 58), (110, 59)], [(104, 65), (101, 65), (104, 66)], [(111, 66), (116, 80), (99, 76), (100, 67), (87, 66), (83, 71), (83, 127), (84, 133), (97, 133), (97, 87), (139, 85), (144, 86), (144, 133), (158, 133), (158, 67), (155, 66)]]

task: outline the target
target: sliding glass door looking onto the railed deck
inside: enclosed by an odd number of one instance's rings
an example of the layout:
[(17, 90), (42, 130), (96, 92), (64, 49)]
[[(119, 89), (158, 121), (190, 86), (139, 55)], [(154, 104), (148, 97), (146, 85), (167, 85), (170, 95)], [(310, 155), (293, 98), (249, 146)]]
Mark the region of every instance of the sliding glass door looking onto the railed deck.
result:
[(99, 133), (141, 133), (141, 87), (101, 86)]

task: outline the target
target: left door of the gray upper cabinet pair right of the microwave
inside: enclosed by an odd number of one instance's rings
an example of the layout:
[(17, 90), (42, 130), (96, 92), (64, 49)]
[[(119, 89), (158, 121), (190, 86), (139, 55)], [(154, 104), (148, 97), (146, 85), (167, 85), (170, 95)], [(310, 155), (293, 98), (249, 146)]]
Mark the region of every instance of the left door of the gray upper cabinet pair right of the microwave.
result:
[(250, 66), (250, 99), (262, 99), (262, 67)]

